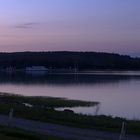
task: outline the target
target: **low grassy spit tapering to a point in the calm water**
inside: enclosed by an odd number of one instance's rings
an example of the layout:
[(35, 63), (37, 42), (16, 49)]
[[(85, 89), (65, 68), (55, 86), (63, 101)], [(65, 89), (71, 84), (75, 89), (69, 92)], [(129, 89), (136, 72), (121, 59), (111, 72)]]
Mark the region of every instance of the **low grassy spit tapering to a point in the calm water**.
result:
[(39, 97), (39, 96), (20, 96), (15, 94), (1, 93), (0, 102), (11, 105), (22, 105), (28, 103), (34, 107), (41, 108), (56, 108), (56, 107), (77, 107), (77, 106), (94, 106), (98, 102), (88, 102), (80, 100), (70, 100), (66, 98), (54, 98), (54, 97)]

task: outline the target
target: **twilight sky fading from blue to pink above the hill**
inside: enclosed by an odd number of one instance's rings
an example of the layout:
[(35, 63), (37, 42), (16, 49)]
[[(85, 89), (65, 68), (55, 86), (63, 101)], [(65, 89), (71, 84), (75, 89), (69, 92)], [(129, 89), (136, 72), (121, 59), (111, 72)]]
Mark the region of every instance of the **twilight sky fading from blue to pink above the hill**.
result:
[(140, 0), (0, 0), (0, 51), (140, 56)]

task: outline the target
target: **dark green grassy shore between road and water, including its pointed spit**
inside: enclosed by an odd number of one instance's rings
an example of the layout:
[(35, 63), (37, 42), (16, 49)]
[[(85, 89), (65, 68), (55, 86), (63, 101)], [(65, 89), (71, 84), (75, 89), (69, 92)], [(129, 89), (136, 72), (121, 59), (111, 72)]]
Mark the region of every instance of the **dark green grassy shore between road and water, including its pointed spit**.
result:
[[(32, 107), (25, 106), (23, 103), (32, 104)], [(140, 121), (126, 120), (124, 118), (111, 116), (90, 116), (75, 114), (64, 111), (56, 111), (54, 107), (73, 107), (96, 105), (97, 102), (73, 101), (62, 98), (49, 97), (24, 97), (9, 94), (0, 95), (0, 113), (8, 115), (10, 108), (14, 109), (14, 117), (52, 122), (62, 125), (70, 125), (81, 128), (93, 128), (120, 132), (122, 122), (126, 122), (126, 133), (140, 135)]]

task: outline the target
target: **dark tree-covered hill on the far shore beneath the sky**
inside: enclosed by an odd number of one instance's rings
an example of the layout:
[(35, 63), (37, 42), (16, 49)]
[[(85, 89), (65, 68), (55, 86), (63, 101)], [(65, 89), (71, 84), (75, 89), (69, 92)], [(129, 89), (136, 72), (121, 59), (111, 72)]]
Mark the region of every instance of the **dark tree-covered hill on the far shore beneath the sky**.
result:
[(45, 66), (49, 69), (140, 70), (140, 58), (97, 52), (0, 53), (0, 68), (22, 69), (30, 66)]

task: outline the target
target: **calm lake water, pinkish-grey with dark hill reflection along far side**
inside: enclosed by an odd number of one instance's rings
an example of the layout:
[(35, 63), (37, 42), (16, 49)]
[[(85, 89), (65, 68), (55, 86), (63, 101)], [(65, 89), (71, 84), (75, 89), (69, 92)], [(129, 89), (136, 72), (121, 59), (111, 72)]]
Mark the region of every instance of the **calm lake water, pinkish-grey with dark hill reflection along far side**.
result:
[(78, 107), (74, 111), (140, 119), (140, 72), (1, 73), (0, 92), (99, 101), (97, 107)]

